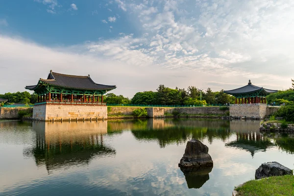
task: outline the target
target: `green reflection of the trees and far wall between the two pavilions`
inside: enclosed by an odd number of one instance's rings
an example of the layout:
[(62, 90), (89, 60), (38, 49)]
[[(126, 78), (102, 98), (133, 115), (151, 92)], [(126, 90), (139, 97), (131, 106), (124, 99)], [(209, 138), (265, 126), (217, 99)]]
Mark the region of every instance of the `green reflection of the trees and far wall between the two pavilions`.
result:
[(142, 122), (141, 125), (130, 128), (135, 138), (137, 140), (157, 141), (160, 147), (166, 147), (166, 145), (174, 143), (186, 143), (192, 138), (200, 141), (207, 138), (211, 144), (214, 139), (224, 141), (231, 135), (228, 121), (149, 119), (147, 122)]

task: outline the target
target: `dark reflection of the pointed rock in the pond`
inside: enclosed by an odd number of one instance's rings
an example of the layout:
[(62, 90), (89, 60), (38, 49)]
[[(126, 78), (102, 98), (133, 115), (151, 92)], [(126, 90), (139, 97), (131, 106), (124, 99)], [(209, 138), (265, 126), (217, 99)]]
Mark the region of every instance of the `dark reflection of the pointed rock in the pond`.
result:
[(212, 171), (212, 168), (213, 167), (198, 170), (187, 170), (185, 168), (181, 168), (181, 171), (185, 175), (188, 188), (201, 188), (203, 184), (209, 180), (209, 173)]

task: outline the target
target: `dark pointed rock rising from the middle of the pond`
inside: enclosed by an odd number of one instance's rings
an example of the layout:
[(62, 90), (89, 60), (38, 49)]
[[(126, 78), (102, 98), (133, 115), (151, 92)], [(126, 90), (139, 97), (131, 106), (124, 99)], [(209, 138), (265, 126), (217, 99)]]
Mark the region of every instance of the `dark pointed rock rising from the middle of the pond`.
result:
[(186, 170), (213, 167), (213, 161), (208, 154), (208, 147), (196, 139), (188, 141), (179, 167), (186, 168)]

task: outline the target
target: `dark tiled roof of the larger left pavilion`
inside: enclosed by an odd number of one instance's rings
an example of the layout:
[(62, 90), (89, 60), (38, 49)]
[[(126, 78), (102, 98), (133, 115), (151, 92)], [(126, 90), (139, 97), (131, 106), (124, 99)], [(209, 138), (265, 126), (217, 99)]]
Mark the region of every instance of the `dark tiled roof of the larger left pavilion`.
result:
[[(97, 84), (95, 83), (90, 75), (80, 76), (80, 75), (67, 75), (62, 73), (50, 72), (47, 79), (40, 78), (41, 82), (49, 84), (52, 86), (71, 88), (71, 89), (82, 89), (82, 90), (112, 90), (116, 86)], [(26, 89), (34, 89), (38, 86), (26, 86)]]

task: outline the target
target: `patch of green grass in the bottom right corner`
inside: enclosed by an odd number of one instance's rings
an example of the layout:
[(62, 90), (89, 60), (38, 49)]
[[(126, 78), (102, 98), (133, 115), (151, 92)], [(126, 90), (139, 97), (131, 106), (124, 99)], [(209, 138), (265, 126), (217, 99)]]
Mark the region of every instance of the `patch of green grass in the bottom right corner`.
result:
[(250, 180), (238, 187), (238, 196), (294, 196), (294, 176), (272, 176)]

